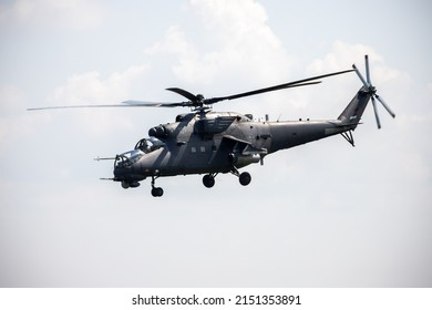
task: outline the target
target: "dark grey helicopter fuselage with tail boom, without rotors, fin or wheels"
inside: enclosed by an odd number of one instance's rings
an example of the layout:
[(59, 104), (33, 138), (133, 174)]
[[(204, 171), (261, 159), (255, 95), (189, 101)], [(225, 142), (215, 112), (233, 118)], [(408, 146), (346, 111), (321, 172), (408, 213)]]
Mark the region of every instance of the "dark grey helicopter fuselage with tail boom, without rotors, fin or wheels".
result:
[[(148, 148), (148, 140), (135, 146), (138, 158), (117, 156), (114, 180), (126, 187), (146, 177), (188, 174), (234, 173), (261, 163), (266, 155), (311, 141), (342, 133), (349, 126), (335, 121), (253, 120), (235, 112), (197, 112), (181, 114), (175, 123), (148, 131), (160, 145)], [(144, 145), (144, 146), (143, 146)]]

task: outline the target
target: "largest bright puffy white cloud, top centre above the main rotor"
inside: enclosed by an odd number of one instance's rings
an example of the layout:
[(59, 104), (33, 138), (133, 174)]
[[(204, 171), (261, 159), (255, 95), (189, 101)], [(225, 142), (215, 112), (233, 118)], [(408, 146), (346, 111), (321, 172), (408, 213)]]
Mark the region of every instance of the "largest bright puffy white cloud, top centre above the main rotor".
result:
[(263, 84), (286, 76), (292, 60), (268, 27), (263, 6), (250, 0), (194, 0), (191, 9), (204, 25), (194, 24), (196, 29), (188, 33), (197, 33), (195, 37), (172, 27), (162, 42), (146, 50), (178, 55), (173, 72), (181, 80), (192, 84), (238, 84), (246, 80)]

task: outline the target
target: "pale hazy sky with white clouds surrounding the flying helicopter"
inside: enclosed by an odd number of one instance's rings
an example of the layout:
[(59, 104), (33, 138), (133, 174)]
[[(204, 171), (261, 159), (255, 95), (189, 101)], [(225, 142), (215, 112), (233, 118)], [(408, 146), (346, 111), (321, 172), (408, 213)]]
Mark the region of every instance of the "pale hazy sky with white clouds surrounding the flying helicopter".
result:
[[(431, 287), (429, 1), (0, 2), (1, 287)], [(100, 180), (177, 108), (28, 107), (223, 96), (364, 70), (397, 117), (218, 175)], [(223, 102), (270, 120), (337, 118), (361, 82)]]

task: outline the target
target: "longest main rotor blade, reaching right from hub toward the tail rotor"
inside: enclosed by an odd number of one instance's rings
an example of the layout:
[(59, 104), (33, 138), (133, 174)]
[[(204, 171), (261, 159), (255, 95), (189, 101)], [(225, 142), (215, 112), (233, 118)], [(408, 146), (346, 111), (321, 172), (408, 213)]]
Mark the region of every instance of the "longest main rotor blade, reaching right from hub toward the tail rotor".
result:
[(318, 83), (321, 83), (321, 82), (320, 81), (319, 82), (309, 82), (309, 81), (319, 80), (319, 79), (323, 79), (323, 78), (329, 78), (329, 76), (338, 75), (338, 74), (343, 74), (343, 73), (348, 73), (348, 72), (351, 72), (351, 71), (353, 71), (353, 70), (346, 70), (346, 71), (340, 71), (340, 72), (318, 75), (318, 76), (313, 76), (313, 78), (302, 79), (302, 80), (298, 80), (298, 81), (294, 81), (294, 82), (289, 82), (289, 83), (285, 83), (285, 84), (280, 84), (280, 85), (276, 85), (276, 86), (271, 86), (271, 87), (259, 89), (259, 90), (255, 90), (255, 91), (250, 91), (250, 92), (246, 92), (246, 93), (240, 93), (240, 94), (235, 94), (235, 95), (230, 95), (230, 96), (213, 97), (213, 99), (206, 100), (206, 103), (207, 104), (213, 104), (213, 103), (216, 103), (216, 102), (219, 102), (219, 101), (224, 101), (224, 100), (234, 100), (234, 99), (251, 96), (251, 95), (263, 94), (263, 93), (267, 93), (267, 92), (274, 92), (274, 91), (289, 89), (289, 87), (297, 87), (297, 86), (318, 84)]

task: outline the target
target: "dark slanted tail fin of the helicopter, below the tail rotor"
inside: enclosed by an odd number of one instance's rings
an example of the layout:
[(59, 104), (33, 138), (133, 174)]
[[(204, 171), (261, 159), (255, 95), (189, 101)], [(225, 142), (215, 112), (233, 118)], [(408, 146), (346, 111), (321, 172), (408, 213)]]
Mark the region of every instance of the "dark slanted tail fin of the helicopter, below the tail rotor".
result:
[(361, 87), (351, 102), (339, 115), (338, 120), (342, 122), (342, 125), (351, 126), (354, 130), (363, 115), (364, 108), (371, 99), (371, 93), (367, 87)]

